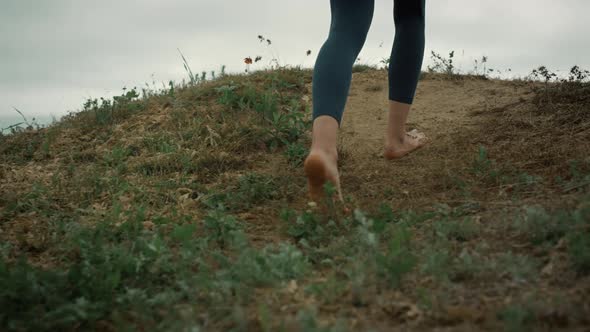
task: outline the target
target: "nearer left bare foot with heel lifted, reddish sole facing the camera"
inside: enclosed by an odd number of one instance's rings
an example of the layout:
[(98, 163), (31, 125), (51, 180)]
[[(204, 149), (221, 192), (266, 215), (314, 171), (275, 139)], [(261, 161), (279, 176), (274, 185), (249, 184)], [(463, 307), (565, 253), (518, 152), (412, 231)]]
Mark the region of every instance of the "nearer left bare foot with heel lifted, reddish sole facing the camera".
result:
[(307, 183), (309, 185), (309, 196), (312, 201), (320, 202), (325, 196), (324, 185), (331, 182), (335, 187), (340, 202), (343, 202), (342, 191), (340, 190), (340, 176), (338, 174), (338, 162), (336, 158), (330, 157), (321, 150), (311, 151), (303, 164)]

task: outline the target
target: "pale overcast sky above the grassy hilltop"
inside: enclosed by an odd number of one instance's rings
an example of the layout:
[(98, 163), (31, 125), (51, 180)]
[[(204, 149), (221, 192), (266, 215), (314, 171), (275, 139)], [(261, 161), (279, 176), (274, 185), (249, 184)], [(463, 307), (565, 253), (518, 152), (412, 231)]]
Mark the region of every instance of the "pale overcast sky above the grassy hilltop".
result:
[[(369, 0), (367, 0), (369, 1)], [(393, 1), (375, 0), (360, 54), (389, 56)], [(0, 128), (20, 109), (41, 121), (123, 87), (186, 78), (193, 71), (243, 71), (243, 58), (272, 55), (312, 67), (330, 25), (328, 0), (0, 0)], [(489, 66), (526, 75), (539, 65), (590, 67), (589, 0), (426, 0), (430, 51), (456, 51), (463, 71)], [(260, 44), (261, 34), (272, 47)], [(312, 55), (305, 56), (307, 50)], [(263, 61), (264, 64), (267, 62)]]

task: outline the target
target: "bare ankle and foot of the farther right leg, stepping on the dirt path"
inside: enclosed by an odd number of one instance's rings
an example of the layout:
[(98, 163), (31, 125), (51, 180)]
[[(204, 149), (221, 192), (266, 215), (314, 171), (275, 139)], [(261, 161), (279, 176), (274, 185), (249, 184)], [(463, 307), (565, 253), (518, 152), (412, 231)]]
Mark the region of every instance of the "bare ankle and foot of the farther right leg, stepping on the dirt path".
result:
[(426, 138), (417, 131), (406, 131), (406, 121), (410, 113), (410, 104), (389, 101), (389, 118), (385, 136), (384, 156), (387, 159), (401, 158), (422, 147)]

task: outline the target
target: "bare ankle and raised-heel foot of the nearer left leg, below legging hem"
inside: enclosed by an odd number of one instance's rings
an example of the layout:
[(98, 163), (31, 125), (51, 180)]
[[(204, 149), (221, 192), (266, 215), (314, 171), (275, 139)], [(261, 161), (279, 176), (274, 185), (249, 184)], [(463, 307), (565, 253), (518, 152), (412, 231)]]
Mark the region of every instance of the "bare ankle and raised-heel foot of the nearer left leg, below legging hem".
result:
[(324, 184), (332, 182), (342, 199), (338, 175), (338, 122), (327, 115), (317, 117), (313, 122), (312, 143), (309, 156), (305, 159), (304, 170), (309, 185), (310, 198), (320, 201), (324, 195)]

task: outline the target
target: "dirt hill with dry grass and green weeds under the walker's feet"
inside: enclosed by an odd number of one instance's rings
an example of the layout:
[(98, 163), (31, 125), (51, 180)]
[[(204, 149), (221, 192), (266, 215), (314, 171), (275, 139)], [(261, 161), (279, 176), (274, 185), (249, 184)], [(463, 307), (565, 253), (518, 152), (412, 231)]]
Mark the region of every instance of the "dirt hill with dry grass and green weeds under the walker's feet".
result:
[(410, 127), (429, 143), (392, 162), (387, 72), (356, 72), (339, 151), (351, 214), (306, 196), (311, 80), (126, 90), (0, 136), (2, 329), (590, 324), (586, 77), (424, 73)]

